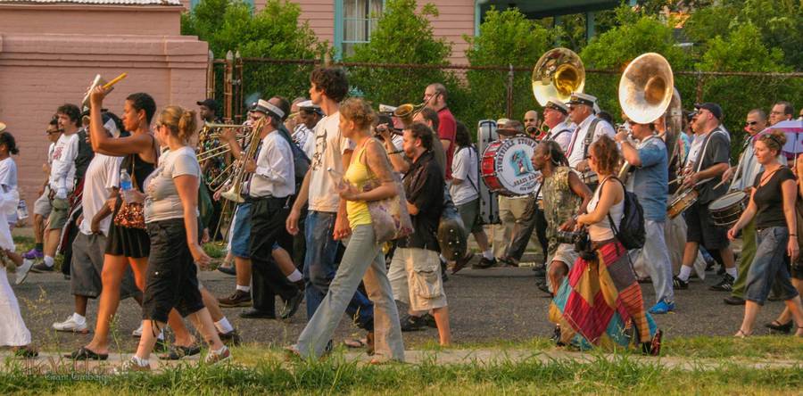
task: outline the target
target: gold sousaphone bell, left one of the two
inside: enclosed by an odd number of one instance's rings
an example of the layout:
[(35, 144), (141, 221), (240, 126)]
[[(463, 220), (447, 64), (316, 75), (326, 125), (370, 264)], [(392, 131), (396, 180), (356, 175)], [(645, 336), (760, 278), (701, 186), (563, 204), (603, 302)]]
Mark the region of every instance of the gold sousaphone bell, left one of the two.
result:
[(583, 92), (583, 61), (568, 48), (552, 48), (535, 62), (531, 82), (535, 100), (542, 106), (549, 101), (566, 103), (573, 92)]

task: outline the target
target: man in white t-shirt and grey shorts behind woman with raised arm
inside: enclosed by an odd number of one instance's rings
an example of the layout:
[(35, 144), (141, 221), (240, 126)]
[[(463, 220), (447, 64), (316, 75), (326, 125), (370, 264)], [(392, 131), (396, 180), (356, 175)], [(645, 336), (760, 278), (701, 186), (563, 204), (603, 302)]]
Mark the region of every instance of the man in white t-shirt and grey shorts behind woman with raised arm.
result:
[[(122, 157), (95, 153), (89, 162), (81, 194), (83, 215), (79, 218), (79, 233), (72, 241), (72, 268), (70, 268), (70, 291), (75, 296), (75, 312), (63, 322), (56, 322), (56, 331), (88, 333), (87, 303), (97, 298), (102, 289), (103, 253), (106, 235), (112, 224), (112, 210), (107, 201), (117, 196), (120, 186), (120, 162)], [(142, 293), (134, 282), (134, 273), (126, 270), (120, 284), (120, 300), (134, 297), (141, 303)]]

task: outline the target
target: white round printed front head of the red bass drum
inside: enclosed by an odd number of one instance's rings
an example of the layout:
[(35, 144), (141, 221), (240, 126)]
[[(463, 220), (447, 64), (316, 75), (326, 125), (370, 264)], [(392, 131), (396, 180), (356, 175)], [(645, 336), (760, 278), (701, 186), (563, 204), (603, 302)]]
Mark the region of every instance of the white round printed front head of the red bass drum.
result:
[(531, 159), (537, 145), (527, 136), (513, 136), (500, 142), (493, 155), (493, 173), (502, 187), (500, 194), (525, 195), (535, 191), (539, 172)]

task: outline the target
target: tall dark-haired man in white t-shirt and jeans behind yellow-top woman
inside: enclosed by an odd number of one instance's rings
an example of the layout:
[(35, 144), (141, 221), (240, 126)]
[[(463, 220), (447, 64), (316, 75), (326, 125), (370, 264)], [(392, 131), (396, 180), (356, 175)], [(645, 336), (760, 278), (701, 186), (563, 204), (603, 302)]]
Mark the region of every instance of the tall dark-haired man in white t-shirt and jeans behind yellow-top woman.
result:
[[(345, 174), (352, 159), (354, 143), (340, 132), (340, 102), (348, 93), (345, 72), (338, 68), (320, 68), (310, 76), (310, 98), (320, 106), (326, 116), (315, 127), (315, 153), (310, 170), (287, 217), (287, 232), (298, 234), (298, 221), (302, 208), (309, 202), (304, 220), (307, 254), (304, 257), (304, 282), (307, 300), (307, 317), (312, 318), (327, 295), (329, 284), (335, 278), (335, 263), (339, 240), (351, 235), (346, 217), (345, 201), (335, 191), (335, 182)], [(312, 136), (310, 136), (312, 137)], [(373, 330), (374, 307), (363, 293), (357, 291), (346, 312), (358, 316), (358, 326)]]

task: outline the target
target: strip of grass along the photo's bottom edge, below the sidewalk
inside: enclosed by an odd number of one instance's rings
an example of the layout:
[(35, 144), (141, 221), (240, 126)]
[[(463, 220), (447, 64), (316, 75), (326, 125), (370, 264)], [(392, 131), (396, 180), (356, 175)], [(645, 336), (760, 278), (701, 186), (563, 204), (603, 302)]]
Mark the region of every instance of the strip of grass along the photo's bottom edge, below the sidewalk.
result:
[(323, 361), (283, 363), (273, 351), (253, 367), (178, 367), (160, 374), (25, 375), (21, 367), (0, 373), (0, 393), (120, 395), (143, 392), (171, 394), (799, 394), (800, 367), (756, 370), (724, 362), (716, 369), (681, 370), (658, 362), (639, 363), (627, 355), (591, 362), (564, 360), (494, 364), (420, 365), (380, 367), (345, 361), (335, 354)]

